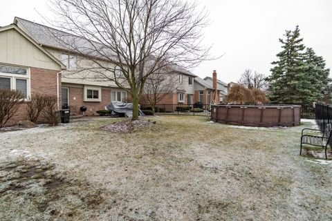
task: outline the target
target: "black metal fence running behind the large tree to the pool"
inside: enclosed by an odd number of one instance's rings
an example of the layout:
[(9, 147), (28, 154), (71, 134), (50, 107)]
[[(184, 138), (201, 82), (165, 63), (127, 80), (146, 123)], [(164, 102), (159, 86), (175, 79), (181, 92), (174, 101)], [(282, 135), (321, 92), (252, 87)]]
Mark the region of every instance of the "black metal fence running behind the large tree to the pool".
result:
[[(143, 113), (152, 111), (151, 106), (141, 105)], [(193, 115), (193, 116), (210, 116), (210, 104), (157, 104), (154, 108), (156, 115)]]

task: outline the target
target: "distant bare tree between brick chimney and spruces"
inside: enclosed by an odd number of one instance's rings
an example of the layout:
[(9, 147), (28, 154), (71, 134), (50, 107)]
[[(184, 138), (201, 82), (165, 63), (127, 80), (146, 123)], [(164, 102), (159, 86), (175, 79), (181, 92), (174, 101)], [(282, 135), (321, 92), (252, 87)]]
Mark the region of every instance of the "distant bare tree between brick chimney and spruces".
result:
[(256, 71), (255, 73), (252, 73), (252, 70), (246, 69), (241, 75), (238, 83), (249, 89), (264, 90), (267, 86), (265, 78), (266, 77), (263, 74), (259, 74)]

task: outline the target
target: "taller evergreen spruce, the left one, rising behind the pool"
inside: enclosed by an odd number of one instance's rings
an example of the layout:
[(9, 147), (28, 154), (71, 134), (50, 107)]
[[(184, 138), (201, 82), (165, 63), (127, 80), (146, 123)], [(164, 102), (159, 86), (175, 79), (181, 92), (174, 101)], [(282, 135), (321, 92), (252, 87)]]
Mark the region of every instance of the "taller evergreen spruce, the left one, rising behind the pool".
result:
[[(322, 79), (317, 78), (315, 65), (304, 52), (306, 47), (299, 37), (299, 27), (286, 30), (284, 36), (285, 39), (279, 39), (283, 50), (277, 54), (278, 60), (271, 63), (275, 66), (268, 77), (268, 98), (274, 104), (312, 104), (322, 97), (322, 87), (319, 87)], [(319, 59), (316, 56), (314, 60)]]

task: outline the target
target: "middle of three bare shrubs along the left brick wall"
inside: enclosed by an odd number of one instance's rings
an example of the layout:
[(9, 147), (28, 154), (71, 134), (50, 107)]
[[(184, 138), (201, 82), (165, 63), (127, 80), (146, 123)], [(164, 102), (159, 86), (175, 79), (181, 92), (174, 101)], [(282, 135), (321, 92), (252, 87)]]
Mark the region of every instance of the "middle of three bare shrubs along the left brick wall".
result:
[(28, 120), (37, 124), (38, 117), (42, 113), (45, 106), (45, 95), (34, 94), (30, 102), (26, 106), (26, 112), (28, 115)]

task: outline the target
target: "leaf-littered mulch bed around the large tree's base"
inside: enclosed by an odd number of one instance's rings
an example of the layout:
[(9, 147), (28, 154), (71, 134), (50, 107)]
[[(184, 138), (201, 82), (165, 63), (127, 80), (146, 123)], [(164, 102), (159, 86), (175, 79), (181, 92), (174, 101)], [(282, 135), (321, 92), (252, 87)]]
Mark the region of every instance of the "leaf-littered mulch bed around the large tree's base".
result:
[(124, 122), (115, 122), (107, 126), (103, 126), (102, 130), (111, 131), (113, 133), (131, 133), (136, 131), (138, 128), (145, 128), (156, 122), (150, 122), (145, 120), (129, 120)]

